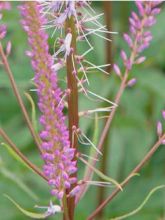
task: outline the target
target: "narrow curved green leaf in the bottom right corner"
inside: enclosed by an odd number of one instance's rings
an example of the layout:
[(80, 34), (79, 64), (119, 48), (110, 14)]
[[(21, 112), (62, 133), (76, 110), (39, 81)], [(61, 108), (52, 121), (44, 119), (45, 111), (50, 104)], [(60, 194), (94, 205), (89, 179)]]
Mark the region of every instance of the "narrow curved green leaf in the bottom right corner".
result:
[(157, 186), (154, 189), (152, 189), (149, 192), (149, 194), (146, 196), (144, 201), (141, 203), (141, 205), (139, 205), (139, 207), (136, 208), (135, 210), (133, 210), (132, 212), (129, 212), (128, 214), (125, 214), (125, 215), (122, 215), (122, 216), (119, 216), (119, 217), (111, 218), (110, 220), (122, 220), (122, 219), (125, 219), (125, 218), (128, 218), (130, 216), (135, 215), (137, 212), (139, 212), (144, 207), (144, 205), (148, 202), (148, 200), (152, 196), (152, 194), (155, 193), (157, 190), (160, 190), (162, 188), (165, 188), (165, 185)]

